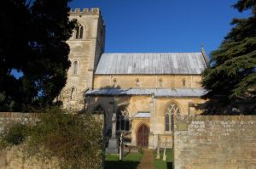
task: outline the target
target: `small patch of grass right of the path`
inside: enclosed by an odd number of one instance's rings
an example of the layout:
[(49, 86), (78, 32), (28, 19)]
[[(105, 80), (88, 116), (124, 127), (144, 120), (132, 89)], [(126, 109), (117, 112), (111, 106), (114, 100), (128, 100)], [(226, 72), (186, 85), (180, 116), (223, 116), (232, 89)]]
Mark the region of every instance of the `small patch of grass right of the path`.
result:
[(156, 159), (156, 151), (154, 151), (154, 168), (155, 169), (172, 169), (173, 151), (166, 149), (166, 161), (163, 161), (163, 151), (160, 155), (160, 160)]

